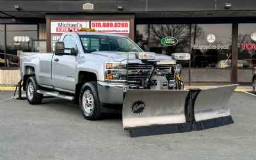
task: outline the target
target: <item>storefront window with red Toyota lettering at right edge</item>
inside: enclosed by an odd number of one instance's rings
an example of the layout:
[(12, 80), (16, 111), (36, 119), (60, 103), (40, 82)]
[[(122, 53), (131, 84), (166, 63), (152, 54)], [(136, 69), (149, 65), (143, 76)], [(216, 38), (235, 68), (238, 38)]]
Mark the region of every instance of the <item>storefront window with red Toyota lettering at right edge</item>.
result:
[(238, 25), (237, 67), (256, 67), (256, 24)]

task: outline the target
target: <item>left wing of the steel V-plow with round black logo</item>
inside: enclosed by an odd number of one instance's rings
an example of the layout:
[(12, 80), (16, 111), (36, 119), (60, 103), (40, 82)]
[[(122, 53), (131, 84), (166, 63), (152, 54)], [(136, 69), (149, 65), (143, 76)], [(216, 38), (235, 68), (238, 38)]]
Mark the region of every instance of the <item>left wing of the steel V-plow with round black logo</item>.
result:
[(191, 131), (186, 122), (188, 90), (128, 90), (123, 126), (131, 137)]

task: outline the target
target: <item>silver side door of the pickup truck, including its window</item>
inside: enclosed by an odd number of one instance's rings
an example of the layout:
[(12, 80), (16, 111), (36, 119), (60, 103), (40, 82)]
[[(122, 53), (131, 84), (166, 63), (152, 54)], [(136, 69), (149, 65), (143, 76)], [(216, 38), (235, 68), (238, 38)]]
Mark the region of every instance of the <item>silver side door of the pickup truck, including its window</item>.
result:
[(52, 84), (56, 89), (75, 91), (77, 56), (72, 55), (70, 49), (77, 49), (76, 38), (73, 35), (66, 35), (63, 42), (67, 48), (65, 54), (63, 56), (54, 54), (52, 58)]

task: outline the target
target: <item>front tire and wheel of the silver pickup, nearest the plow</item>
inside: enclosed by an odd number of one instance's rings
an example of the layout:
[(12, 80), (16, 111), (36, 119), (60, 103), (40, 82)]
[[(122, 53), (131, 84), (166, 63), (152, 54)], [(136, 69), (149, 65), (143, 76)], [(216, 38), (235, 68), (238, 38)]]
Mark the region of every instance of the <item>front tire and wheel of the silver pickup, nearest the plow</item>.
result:
[(79, 106), (86, 120), (99, 120), (100, 100), (97, 90), (97, 82), (84, 83), (79, 93)]

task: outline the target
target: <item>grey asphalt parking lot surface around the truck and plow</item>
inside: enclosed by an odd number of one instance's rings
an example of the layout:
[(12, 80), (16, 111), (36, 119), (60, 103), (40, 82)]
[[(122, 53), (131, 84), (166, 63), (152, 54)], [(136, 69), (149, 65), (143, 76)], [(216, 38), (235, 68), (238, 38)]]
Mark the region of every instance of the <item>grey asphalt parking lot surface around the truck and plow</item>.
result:
[(88, 121), (68, 100), (40, 105), (0, 92), (0, 159), (256, 159), (256, 97), (234, 92), (234, 124), (130, 138), (122, 115)]

